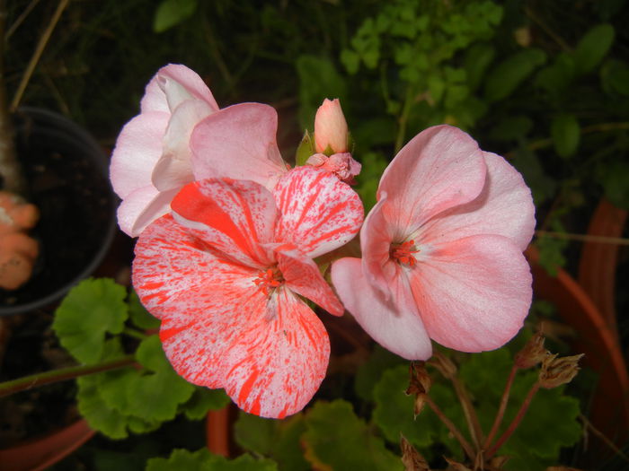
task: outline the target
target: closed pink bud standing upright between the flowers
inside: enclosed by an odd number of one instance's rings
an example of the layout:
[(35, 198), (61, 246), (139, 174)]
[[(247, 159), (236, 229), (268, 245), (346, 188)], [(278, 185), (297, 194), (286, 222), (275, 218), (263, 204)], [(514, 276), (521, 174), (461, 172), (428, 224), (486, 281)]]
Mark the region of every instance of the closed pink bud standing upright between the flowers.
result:
[(341, 102), (338, 98), (326, 98), (314, 117), (314, 148), (318, 153), (325, 153), (328, 147), (332, 153), (346, 153), (347, 141), (347, 121), (343, 116)]

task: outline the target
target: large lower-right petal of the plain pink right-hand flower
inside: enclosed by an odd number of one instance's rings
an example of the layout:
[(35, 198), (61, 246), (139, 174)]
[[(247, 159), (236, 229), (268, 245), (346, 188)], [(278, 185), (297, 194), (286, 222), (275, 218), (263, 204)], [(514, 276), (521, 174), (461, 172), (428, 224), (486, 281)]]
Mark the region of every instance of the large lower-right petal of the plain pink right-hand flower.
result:
[(430, 338), (464, 352), (506, 344), (522, 327), (531, 303), (527, 260), (502, 236), (434, 246), (409, 276)]

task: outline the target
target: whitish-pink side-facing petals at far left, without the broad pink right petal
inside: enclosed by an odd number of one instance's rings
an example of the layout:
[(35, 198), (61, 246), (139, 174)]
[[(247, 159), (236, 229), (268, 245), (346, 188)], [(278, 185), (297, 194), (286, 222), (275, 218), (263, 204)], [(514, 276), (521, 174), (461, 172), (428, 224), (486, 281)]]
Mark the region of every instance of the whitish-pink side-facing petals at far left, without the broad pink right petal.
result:
[(111, 155), (122, 231), (136, 237), (169, 211), (173, 196), (193, 179), (192, 128), (217, 110), (206, 84), (185, 65), (165, 65), (146, 85), (140, 114), (122, 128)]

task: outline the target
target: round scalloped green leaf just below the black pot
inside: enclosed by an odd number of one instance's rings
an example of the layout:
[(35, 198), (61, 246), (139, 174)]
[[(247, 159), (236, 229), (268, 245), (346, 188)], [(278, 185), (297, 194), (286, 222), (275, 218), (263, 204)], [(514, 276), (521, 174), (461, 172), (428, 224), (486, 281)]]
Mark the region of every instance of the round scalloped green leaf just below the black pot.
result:
[(123, 286), (108, 278), (76, 285), (55, 311), (52, 328), (61, 345), (79, 362), (102, 359), (106, 334), (120, 334), (128, 317)]

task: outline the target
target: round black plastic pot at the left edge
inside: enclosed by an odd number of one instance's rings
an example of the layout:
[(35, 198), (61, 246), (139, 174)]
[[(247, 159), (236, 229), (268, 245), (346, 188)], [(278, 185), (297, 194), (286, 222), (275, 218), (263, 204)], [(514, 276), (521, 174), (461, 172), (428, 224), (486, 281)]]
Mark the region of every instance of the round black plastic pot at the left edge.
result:
[(108, 159), (91, 135), (61, 115), (33, 108), (16, 113), (15, 131), (28, 197), (40, 208), (31, 231), (40, 256), (29, 282), (0, 289), (0, 316), (58, 301), (99, 266), (116, 228)]

